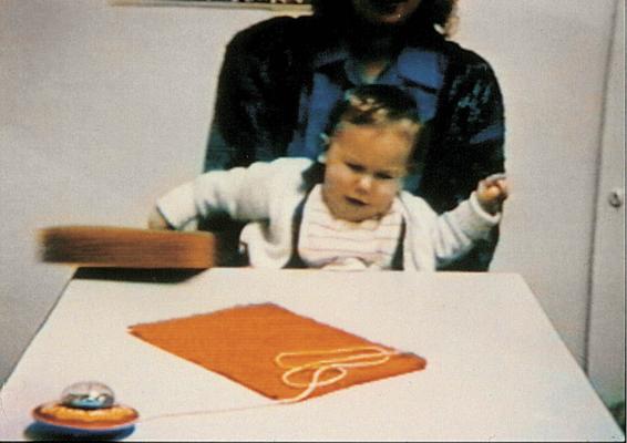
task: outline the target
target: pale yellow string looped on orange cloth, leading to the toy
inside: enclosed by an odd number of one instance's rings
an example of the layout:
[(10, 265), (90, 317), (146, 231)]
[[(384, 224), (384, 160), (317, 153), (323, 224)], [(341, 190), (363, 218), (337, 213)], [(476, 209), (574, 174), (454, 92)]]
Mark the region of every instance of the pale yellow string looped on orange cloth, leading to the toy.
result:
[[(360, 353), (354, 353), (360, 352)], [(342, 354), (345, 354), (342, 357)], [(174, 412), (160, 415), (153, 415), (147, 419), (141, 420), (138, 423), (145, 423), (153, 420), (161, 419), (172, 419), (177, 416), (192, 416), (192, 415), (204, 415), (204, 414), (219, 414), (227, 412), (238, 412), (247, 411), (251, 409), (270, 408), (281, 404), (290, 404), (305, 400), (319, 387), (327, 387), (337, 383), (348, 374), (349, 368), (366, 368), (379, 365), (388, 362), (392, 356), (398, 354), (398, 351), (388, 350), (378, 346), (364, 346), (364, 347), (352, 347), (352, 348), (337, 348), (330, 350), (315, 350), (315, 351), (295, 351), (295, 352), (280, 352), (275, 357), (275, 363), (285, 369), (286, 371), (281, 375), (281, 381), (291, 388), (305, 388), (302, 392), (298, 395), (281, 399), (274, 403), (263, 403), (248, 406), (239, 408), (226, 408), (226, 409), (215, 409), (215, 410), (199, 410), (199, 411), (188, 411), (188, 412)], [(308, 357), (308, 356), (338, 356), (330, 358), (322, 358), (318, 360), (312, 360), (304, 364), (287, 364), (284, 361), (289, 358), (295, 357)], [(294, 375), (314, 371), (310, 381), (308, 382), (296, 382), (294, 381)], [(321, 380), (322, 375), (328, 371), (338, 372), (336, 375), (328, 379)]]

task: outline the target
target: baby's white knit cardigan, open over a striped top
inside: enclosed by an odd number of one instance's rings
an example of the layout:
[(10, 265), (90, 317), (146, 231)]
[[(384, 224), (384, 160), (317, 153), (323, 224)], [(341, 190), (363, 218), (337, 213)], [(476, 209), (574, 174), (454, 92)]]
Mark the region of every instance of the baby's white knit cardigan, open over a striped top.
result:
[[(157, 207), (177, 229), (215, 212), (249, 222), (240, 243), (247, 248), (250, 265), (282, 268), (292, 250), (294, 213), (306, 196), (302, 172), (311, 164), (307, 158), (279, 158), (205, 173), (164, 195)], [(484, 212), (474, 193), (442, 215), (407, 192), (397, 198), (407, 223), (404, 270), (435, 270), (459, 258), (473, 241), (486, 238), (501, 218), (501, 214)]]

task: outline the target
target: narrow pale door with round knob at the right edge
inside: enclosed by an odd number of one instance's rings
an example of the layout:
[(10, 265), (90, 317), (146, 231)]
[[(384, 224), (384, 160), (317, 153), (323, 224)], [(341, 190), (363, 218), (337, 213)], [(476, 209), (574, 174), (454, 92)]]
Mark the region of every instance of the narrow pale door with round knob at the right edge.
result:
[(617, 4), (604, 113), (588, 320), (587, 370), (607, 404), (625, 401), (625, 3)]

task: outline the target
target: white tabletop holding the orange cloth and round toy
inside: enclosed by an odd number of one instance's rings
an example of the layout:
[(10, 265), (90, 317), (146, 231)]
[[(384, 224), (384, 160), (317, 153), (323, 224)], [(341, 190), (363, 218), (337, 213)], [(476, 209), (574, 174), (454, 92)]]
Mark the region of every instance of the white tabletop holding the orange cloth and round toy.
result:
[(624, 440), (518, 275), (227, 268), (181, 282), (73, 279), (0, 391), (0, 440), (28, 439), (31, 409), (82, 380), (144, 419), (269, 403), (126, 329), (266, 301), (428, 367), (298, 404), (140, 422), (125, 439)]

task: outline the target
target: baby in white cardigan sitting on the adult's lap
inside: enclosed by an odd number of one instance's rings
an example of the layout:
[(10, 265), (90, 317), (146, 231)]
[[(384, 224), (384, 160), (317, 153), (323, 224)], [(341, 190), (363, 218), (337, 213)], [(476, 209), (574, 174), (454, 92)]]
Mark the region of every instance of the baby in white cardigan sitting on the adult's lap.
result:
[(507, 197), (502, 174), (438, 215), (402, 190), (421, 124), (400, 89), (363, 85), (331, 112), (316, 161), (279, 158), (205, 173), (158, 199), (150, 228), (184, 229), (226, 213), (247, 222), (253, 267), (435, 270), (487, 237)]

